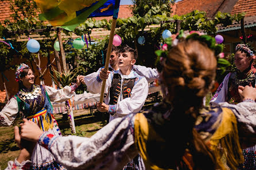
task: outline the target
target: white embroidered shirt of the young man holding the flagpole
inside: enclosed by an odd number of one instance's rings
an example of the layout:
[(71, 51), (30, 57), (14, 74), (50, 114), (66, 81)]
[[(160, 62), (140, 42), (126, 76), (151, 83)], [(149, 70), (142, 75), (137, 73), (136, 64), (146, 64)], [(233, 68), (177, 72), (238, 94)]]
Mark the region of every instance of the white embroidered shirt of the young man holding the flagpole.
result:
[[(113, 79), (115, 72), (111, 72), (106, 80), (106, 89), (105, 93), (107, 96), (104, 98), (105, 104), (109, 104), (110, 96), (109, 89), (111, 88), (111, 82)], [(122, 95), (119, 95), (118, 102), (116, 105), (110, 105), (110, 109), (108, 112), (114, 113), (113, 116), (110, 115), (110, 120), (113, 120), (117, 117), (123, 117), (130, 113), (138, 113), (141, 110), (142, 106), (146, 101), (146, 97), (148, 96), (149, 86), (145, 77), (139, 76), (134, 70), (131, 70), (129, 75), (123, 75), (119, 70), (118, 73), (121, 75), (121, 84), (123, 80), (129, 78), (138, 78), (138, 80), (134, 83), (133, 89), (131, 90), (131, 96), (124, 98)], [(99, 79), (99, 74), (92, 73), (84, 78), (86, 80), (87, 89), (91, 93), (100, 93), (102, 87), (102, 80)], [(122, 85), (121, 85), (122, 89)], [(122, 94), (122, 92), (121, 92)]]

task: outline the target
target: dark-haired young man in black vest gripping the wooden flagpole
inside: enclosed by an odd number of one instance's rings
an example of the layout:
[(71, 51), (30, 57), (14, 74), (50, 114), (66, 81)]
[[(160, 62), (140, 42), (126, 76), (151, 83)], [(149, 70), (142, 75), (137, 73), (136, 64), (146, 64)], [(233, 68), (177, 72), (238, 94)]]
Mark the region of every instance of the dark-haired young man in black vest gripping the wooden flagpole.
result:
[(110, 121), (117, 117), (126, 116), (129, 113), (137, 113), (148, 96), (148, 81), (145, 77), (139, 76), (132, 69), (136, 62), (137, 53), (129, 46), (125, 46), (118, 53), (118, 73), (100, 70), (97, 75), (99, 93), (102, 80), (106, 80), (107, 94), (105, 103), (98, 103), (97, 109), (100, 112), (110, 113)]

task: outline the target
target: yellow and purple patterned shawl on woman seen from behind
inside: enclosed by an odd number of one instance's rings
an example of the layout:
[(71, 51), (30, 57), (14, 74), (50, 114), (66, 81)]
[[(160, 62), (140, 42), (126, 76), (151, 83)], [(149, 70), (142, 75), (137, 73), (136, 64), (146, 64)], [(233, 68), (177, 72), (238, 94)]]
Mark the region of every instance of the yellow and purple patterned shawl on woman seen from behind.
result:
[[(165, 119), (163, 118), (165, 116), (162, 116), (164, 113), (156, 112), (150, 113), (153, 116), (149, 116), (149, 112), (138, 113), (135, 115), (135, 144), (142, 156), (146, 169), (162, 170), (161, 167), (150, 161), (152, 158), (148, 155), (147, 144), (150, 143), (150, 141), (154, 141), (155, 143), (160, 144), (161, 147), (166, 147), (168, 145), (167, 143), (164, 143), (165, 139), (158, 135), (154, 128), (154, 124), (157, 122), (159, 125), (161, 121)], [(153, 112), (153, 110), (151, 110), (151, 112)], [(168, 119), (164, 121), (168, 121)], [(243, 163), (242, 149), (238, 139), (236, 117), (231, 109), (220, 107), (202, 109), (200, 116), (197, 118), (195, 129), (216, 156), (217, 161), (221, 166), (220, 168), (226, 169), (228, 165), (231, 169), (236, 169), (239, 164)], [(225, 155), (227, 155), (227, 157)], [(193, 163), (191, 164), (186, 160), (187, 156), (191, 156), (191, 154), (189, 153), (183, 156), (183, 161), (187, 165), (186, 169), (193, 169)], [(224, 161), (227, 161), (227, 165), (223, 161), (223, 156)], [(172, 161), (171, 158), (169, 161)]]

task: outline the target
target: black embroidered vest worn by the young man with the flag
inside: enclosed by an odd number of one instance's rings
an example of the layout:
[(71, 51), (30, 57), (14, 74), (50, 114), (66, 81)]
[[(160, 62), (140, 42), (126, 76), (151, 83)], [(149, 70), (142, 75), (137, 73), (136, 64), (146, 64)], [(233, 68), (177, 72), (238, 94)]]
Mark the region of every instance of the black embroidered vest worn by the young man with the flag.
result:
[[(121, 93), (121, 75), (116, 73), (114, 74), (112, 83), (111, 83), (111, 88), (110, 88), (110, 105), (115, 105), (117, 104), (118, 97)], [(136, 78), (129, 78), (123, 80), (123, 85), (122, 85), (122, 97), (127, 98), (131, 97), (131, 90), (133, 89), (134, 82)]]

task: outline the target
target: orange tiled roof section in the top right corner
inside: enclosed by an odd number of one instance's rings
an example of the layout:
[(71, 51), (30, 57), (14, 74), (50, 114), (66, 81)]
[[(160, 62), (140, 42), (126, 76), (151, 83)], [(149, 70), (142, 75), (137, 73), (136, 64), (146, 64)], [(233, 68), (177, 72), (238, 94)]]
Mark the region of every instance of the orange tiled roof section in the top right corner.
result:
[(256, 15), (256, 0), (238, 0), (231, 14), (246, 13), (246, 17)]

